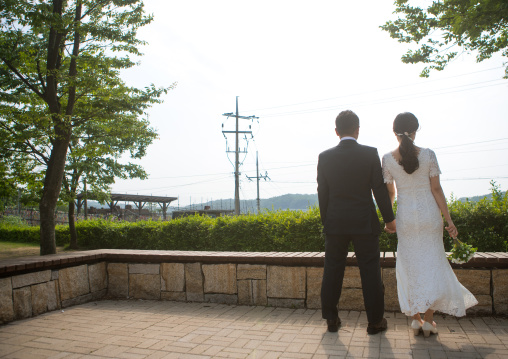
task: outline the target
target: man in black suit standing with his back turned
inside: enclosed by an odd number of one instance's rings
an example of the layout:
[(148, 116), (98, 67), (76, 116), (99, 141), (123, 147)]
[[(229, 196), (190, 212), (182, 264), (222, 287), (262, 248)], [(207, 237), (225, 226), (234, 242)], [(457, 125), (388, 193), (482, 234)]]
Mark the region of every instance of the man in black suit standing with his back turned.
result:
[(319, 155), (318, 198), (324, 226), (325, 268), (321, 287), (323, 319), (328, 331), (340, 326), (337, 305), (344, 279), (348, 246), (353, 242), (367, 311), (367, 333), (387, 328), (384, 318), (384, 286), (379, 265), (381, 228), (372, 193), (386, 223), (395, 233), (388, 190), (383, 181), (377, 149), (357, 143), (360, 120), (353, 111), (342, 111), (335, 120), (338, 146)]

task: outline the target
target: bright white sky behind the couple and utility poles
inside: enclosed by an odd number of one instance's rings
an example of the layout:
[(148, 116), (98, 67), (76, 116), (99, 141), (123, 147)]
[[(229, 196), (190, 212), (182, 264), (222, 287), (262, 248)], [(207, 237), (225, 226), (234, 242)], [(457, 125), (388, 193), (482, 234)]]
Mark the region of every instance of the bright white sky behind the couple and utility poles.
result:
[(137, 87), (178, 85), (149, 110), (160, 136), (140, 161), (150, 178), (120, 180), (114, 193), (174, 196), (180, 206), (233, 198), (221, 126), (234, 129), (222, 114), (235, 111), (236, 96), (240, 115), (259, 117), (240, 169), (241, 199), (256, 198), (246, 178), (256, 175), (256, 151), (271, 179), (261, 182), (261, 198), (315, 193), (318, 154), (338, 143), (334, 121), (344, 109), (360, 117), (359, 142), (380, 156), (397, 146), (395, 116), (414, 113), (416, 144), (435, 150), (447, 197), (489, 193), (490, 179), (508, 188), (503, 59), (477, 64), (466, 54), (420, 78), (423, 66), (400, 61), (409, 45), (379, 28), (395, 19), (391, 0), (145, 4), (155, 20), (139, 36), (149, 45), (123, 77)]

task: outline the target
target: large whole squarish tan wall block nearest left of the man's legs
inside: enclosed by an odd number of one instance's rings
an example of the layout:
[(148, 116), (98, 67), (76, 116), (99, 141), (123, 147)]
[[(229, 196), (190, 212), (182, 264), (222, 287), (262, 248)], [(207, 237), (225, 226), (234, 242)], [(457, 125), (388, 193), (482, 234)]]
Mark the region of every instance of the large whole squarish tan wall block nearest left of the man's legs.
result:
[(305, 299), (305, 267), (268, 266), (268, 298)]

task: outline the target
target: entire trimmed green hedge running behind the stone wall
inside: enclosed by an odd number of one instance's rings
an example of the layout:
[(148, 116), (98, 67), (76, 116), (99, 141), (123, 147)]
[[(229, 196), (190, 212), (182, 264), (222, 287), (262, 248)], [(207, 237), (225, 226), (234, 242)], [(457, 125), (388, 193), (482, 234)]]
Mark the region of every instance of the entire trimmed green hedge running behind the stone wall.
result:
[[(481, 252), (508, 250), (508, 194), (496, 195), (494, 191), (492, 200), (478, 202), (452, 199), (449, 209), (459, 230), (459, 239), (463, 242)], [(76, 230), (78, 245), (89, 249), (324, 251), (324, 235), (317, 207), (307, 211), (279, 210), (237, 217), (196, 215), (167, 222), (88, 220), (76, 223)], [(446, 231), (443, 231), (443, 239), (446, 250), (450, 250), (452, 241)], [(38, 243), (39, 227), (0, 223), (0, 240)], [(56, 227), (56, 242), (59, 246), (69, 243), (68, 226)], [(380, 249), (396, 251), (397, 236), (383, 232)]]

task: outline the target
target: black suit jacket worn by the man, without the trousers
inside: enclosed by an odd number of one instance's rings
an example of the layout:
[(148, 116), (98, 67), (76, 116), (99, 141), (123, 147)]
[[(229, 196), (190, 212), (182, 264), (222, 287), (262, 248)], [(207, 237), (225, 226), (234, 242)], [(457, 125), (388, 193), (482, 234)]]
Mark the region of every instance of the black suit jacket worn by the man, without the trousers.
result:
[(342, 140), (319, 155), (318, 198), (326, 234), (379, 234), (372, 193), (386, 223), (395, 219), (377, 149)]

